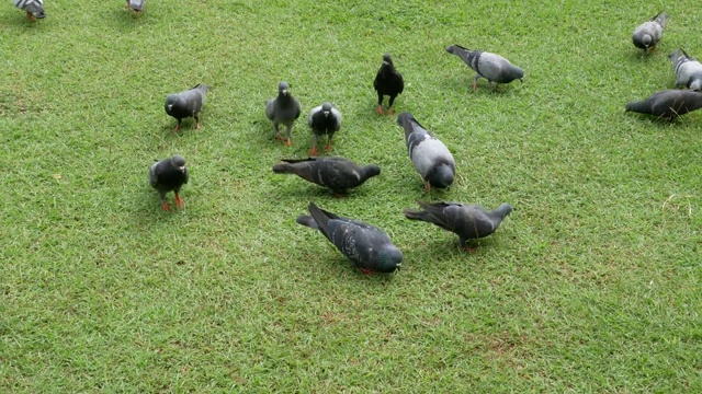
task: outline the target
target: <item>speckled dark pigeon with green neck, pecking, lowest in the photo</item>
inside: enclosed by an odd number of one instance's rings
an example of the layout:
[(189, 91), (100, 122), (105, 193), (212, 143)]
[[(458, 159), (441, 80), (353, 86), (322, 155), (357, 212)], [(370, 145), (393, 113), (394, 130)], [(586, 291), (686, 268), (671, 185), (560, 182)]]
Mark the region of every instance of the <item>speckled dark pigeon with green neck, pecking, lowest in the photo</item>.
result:
[(403, 252), (383, 230), (328, 212), (314, 202), (309, 202), (309, 213), (297, 217), (296, 222), (319, 230), (365, 275), (389, 274), (401, 266)]

